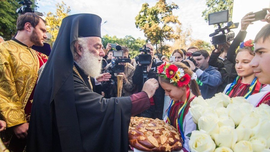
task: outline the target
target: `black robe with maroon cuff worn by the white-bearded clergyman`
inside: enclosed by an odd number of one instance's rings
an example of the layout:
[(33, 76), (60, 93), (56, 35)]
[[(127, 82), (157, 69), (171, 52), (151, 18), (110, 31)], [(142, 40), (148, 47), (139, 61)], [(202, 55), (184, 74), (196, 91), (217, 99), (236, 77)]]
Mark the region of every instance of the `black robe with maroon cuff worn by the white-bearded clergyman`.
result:
[[(147, 94), (141, 92), (128, 97), (104, 99), (91, 90), (87, 76), (76, 67), (83, 78), (73, 71), (76, 115), (83, 151), (127, 151), (130, 117), (150, 107)], [(66, 147), (63, 144), (72, 143), (73, 137), (60, 138), (59, 132), (64, 134), (68, 132), (68, 128), (58, 122), (56, 115), (61, 109), (57, 108), (54, 102), (51, 104), (52, 147), (49, 149), (57, 152), (73, 151), (63, 149)], [(38, 132), (36, 134), (40, 135)], [(38, 140), (39, 143), (42, 142), (41, 138)], [(47, 148), (36, 145), (29, 151), (47, 151)]]

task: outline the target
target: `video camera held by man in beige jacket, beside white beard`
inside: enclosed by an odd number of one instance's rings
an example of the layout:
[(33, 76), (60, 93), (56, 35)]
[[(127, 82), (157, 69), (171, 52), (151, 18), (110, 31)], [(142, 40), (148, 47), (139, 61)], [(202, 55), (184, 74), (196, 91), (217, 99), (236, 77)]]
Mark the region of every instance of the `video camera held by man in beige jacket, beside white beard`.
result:
[(123, 50), (121, 45), (116, 45), (116, 50), (113, 50), (113, 57), (116, 57), (111, 62), (111, 65), (107, 68), (107, 72), (111, 73), (112, 76), (114, 73), (121, 73), (125, 71), (125, 66), (124, 65), (119, 65), (119, 63), (128, 63), (131, 62), (130, 58), (119, 58), (123, 56)]

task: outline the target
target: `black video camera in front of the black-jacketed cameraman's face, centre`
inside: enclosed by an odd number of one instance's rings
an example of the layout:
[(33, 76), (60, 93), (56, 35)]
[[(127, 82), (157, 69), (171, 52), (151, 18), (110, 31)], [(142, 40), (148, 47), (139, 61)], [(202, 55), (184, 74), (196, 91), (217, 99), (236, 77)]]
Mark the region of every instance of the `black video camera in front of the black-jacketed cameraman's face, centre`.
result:
[(140, 48), (140, 52), (143, 52), (144, 54), (140, 54), (135, 57), (136, 63), (139, 62), (142, 65), (149, 65), (152, 61), (152, 56), (147, 54), (150, 52), (150, 48), (144, 45), (143, 48)]

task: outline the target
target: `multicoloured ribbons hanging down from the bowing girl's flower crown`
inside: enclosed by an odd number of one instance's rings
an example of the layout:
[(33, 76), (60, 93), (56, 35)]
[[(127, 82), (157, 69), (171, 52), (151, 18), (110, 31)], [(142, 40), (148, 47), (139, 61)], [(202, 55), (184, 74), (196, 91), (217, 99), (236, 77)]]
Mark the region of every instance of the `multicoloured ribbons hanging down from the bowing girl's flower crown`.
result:
[[(178, 117), (177, 117), (177, 120), (176, 120), (176, 126), (177, 126), (176, 129), (178, 130), (178, 132), (181, 133), (183, 142), (185, 141), (185, 138), (184, 138), (184, 137), (185, 137), (185, 136), (184, 136), (184, 130), (183, 130), (184, 109), (185, 109), (185, 107), (186, 107), (186, 105), (187, 105), (187, 100), (189, 99), (189, 97), (190, 97), (190, 88), (189, 88), (189, 85), (187, 85), (187, 98), (186, 98), (186, 100), (185, 100), (183, 106), (182, 106), (181, 108), (179, 108), (179, 110), (178, 110)], [(173, 100), (171, 99), (170, 106), (169, 106), (169, 108), (167, 109), (167, 121), (166, 121), (166, 123), (171, 124), (170, 119), (169, 119), (169, 116), (170, 116), (170, 110), (171, 110), (171, 108), (172, 108), (172, 106), (173, 106), (174, 104), (175, 104), (175, 101), (173, 101)], [(172, 124), (171, 124), (171, 125), (172, 125)]]

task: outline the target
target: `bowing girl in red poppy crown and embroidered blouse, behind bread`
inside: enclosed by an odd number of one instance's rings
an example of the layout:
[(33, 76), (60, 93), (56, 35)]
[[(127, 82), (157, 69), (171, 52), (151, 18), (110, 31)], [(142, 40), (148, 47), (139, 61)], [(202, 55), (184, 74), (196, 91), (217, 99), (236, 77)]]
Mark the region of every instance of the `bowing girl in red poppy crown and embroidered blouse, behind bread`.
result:
[(158, 66), (158, 75), (158, 81), (165, 90), (165, 95), (171, 98), (164, 121), (179, 131), (184, 141), (183, 150), (189, 151), (187, 134), (196, 130), (196, 124), (188, 109), (190, 102), (201, 95), (196, 83), (196, 73), (184, 63), (165, 62)]

